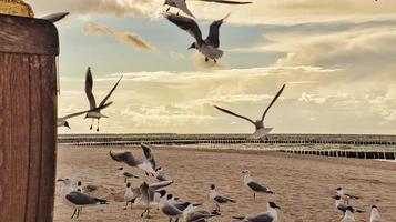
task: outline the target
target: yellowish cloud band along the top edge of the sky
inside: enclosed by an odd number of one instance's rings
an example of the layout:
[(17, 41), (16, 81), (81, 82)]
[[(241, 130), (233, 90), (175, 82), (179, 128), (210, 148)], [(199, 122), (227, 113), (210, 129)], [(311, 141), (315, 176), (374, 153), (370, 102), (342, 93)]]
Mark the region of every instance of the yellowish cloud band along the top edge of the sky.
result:
[[(40, 13), (70, 11), (72, 14), (158, 18), (164, 0), (31, 0)], [(394, 19), (393, 1), (362, 0), (270, 0), (246, 6), (187, 1), (201, 19), (215, 20), (227, 14), (233, 24), (301, 24), (319, 22), (364, 22)]]

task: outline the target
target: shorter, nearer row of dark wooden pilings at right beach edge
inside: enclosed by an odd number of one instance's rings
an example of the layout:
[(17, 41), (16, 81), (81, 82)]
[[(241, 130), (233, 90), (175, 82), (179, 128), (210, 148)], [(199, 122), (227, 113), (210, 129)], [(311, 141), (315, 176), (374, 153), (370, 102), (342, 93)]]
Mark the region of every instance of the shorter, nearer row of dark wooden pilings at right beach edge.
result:
[(356, 158), (356, 159), (380, 159), (395, 160), (396, 152), (390, 151), (346, 151), (346, 150), (282, 150), (282, 152), (302, 155), (323, 155), (335, 158)]

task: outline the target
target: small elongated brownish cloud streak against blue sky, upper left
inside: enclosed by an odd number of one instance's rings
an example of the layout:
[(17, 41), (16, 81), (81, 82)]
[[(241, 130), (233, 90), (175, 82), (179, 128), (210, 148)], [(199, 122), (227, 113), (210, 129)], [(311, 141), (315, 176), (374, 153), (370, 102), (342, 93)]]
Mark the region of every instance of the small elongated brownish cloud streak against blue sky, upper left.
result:
[(112, 37), (119, 42), (126, 43), (140, 51), (148, 51), (148, 52), (156, 51), (156, 49), (153, 46), (151, 46), (148, 41), (143, 40), (142, 37), (140, 37), (139, 34), (133, 32), (121, 32), (121, 31), (112, 30), (103, 24), (99, 24), (94, 22), (85, 23), (83, 27), (83, 31), (88, 34)]

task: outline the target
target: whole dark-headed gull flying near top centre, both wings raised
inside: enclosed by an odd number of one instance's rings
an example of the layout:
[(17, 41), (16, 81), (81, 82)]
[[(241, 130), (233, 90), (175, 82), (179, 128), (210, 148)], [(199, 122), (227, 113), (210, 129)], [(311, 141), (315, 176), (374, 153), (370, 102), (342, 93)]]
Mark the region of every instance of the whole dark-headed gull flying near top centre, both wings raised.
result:
[(176, 16), (173, 13), (165, 13), (165, 18), (172, 23), (176, 24), (179, 28), (189, 32), (195, 42), (191, 44), (189, 49), (196, 49), (203, 56), (205, 56), (205, 61), (210, 59), (217, 62), (217, 59), (222, 58), (224, 52), (219, 49), (220, 47), (220, 27), (223, 24), (224, 20), (229, 18), (230, 14), (225, 16), (223, 19), (212, 22), (209, 29), (209, 36), (206, 39), (202, 39), (202, 33), (199, 24), (191, 18)]

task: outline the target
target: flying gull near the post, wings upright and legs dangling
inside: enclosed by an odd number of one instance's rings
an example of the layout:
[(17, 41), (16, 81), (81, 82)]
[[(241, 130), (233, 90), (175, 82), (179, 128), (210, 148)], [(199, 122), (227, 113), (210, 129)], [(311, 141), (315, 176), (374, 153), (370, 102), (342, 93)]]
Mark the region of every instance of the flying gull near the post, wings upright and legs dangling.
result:
[(97, 131), (99, 132), (99, 120), (100, 120), (101, 118), (108, 118), (108, 117), (103, 115), (103, 114), (101, 113), (101, 111), (113, 103), (113, 102), (108, 102), (108, 100), (110, 99), (111, 94), (114, 92), (114, 90), (116, 89), (116, 87), (119, 85), (121, 79), (122, 79), (122, 77), (121, 77), (121, 78), (119, 79), (119, 81), (115, 83), (115, 85), (113, 87), (113, 89), (111, 89), (111, 91), (108, 93), (108, 95), (105, 95), (105, 98), (101, 101), (101, 103), (100, 103), (99, 105), (97, 105), (95, 98), (93, 97), (93, 93), (92, 93), (93, 80), (92, 80), (91, 68), (89, 67), (89, 68), (87, 69), (87, 74), (85, 74), (85, 94), (87, 94), (88, 101), (90, 102), (90, 111), (87, 112), (85, 119), (88, 119), (88, 118), (89, 118), (89, 119), (92, 119), (92, 123), (91, 123), (90, 130), (92, 130), (93, 121), (97, 119), (97, 120), (98, 120)]

